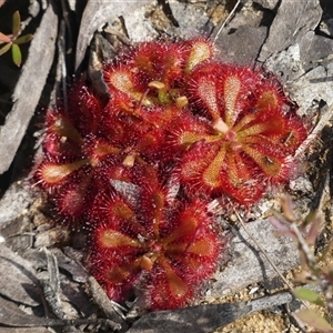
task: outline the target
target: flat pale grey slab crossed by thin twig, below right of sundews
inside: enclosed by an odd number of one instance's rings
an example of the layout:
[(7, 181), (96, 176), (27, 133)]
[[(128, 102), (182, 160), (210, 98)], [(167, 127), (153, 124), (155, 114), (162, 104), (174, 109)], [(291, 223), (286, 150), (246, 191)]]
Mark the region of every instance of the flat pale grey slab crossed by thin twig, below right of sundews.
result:
[[(268, 220), (248, 223), (246, 230), (255, 238), (281, 272), (297, 266), (299, 252), (295, 243), (286, 236), (278, 238), (276, 230)], [(213, 297), (232, 294), (249, 284), (276, 276), (274, 269), (243, 228), (235, 231), (230, 246), (232, 259), (225, 269), (215, 274), (216, 282), (211, 290)]]

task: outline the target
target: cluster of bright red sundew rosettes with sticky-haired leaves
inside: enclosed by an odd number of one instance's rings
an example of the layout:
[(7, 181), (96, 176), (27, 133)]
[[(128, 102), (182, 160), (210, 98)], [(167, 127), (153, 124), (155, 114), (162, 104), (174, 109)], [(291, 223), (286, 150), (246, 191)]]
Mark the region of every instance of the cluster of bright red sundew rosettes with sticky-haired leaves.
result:
[(203, 38), (139, 43), (103, 75), (108, 99), (81, 82), (47, 112), (34, 181), (58, 219), (89, 226), (112, 300), (135, 287), (149, 309), (183, 306), (224, 248), (208, 203), (285, 182), (306, 129), (273, 75), (215, 61)]

